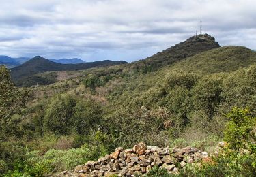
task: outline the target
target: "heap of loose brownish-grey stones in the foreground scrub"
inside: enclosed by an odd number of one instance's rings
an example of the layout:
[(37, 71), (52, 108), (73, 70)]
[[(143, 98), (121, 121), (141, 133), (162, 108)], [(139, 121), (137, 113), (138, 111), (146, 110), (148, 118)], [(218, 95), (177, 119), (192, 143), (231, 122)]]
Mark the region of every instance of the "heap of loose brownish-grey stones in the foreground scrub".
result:
[(58, 176), (134, 176), (146, 174), (152, 167), (167, 169), (177, 174), (188, 163), (198, 163), (201, 159), (207, 160), (208, 152), (201, 152), (197, 148), (159, 148), (146, 146), (143, 142), (132, 149), (116, 148), (115, 152), (98, 161), (88, 161), (72, 171), (61, 172)]

